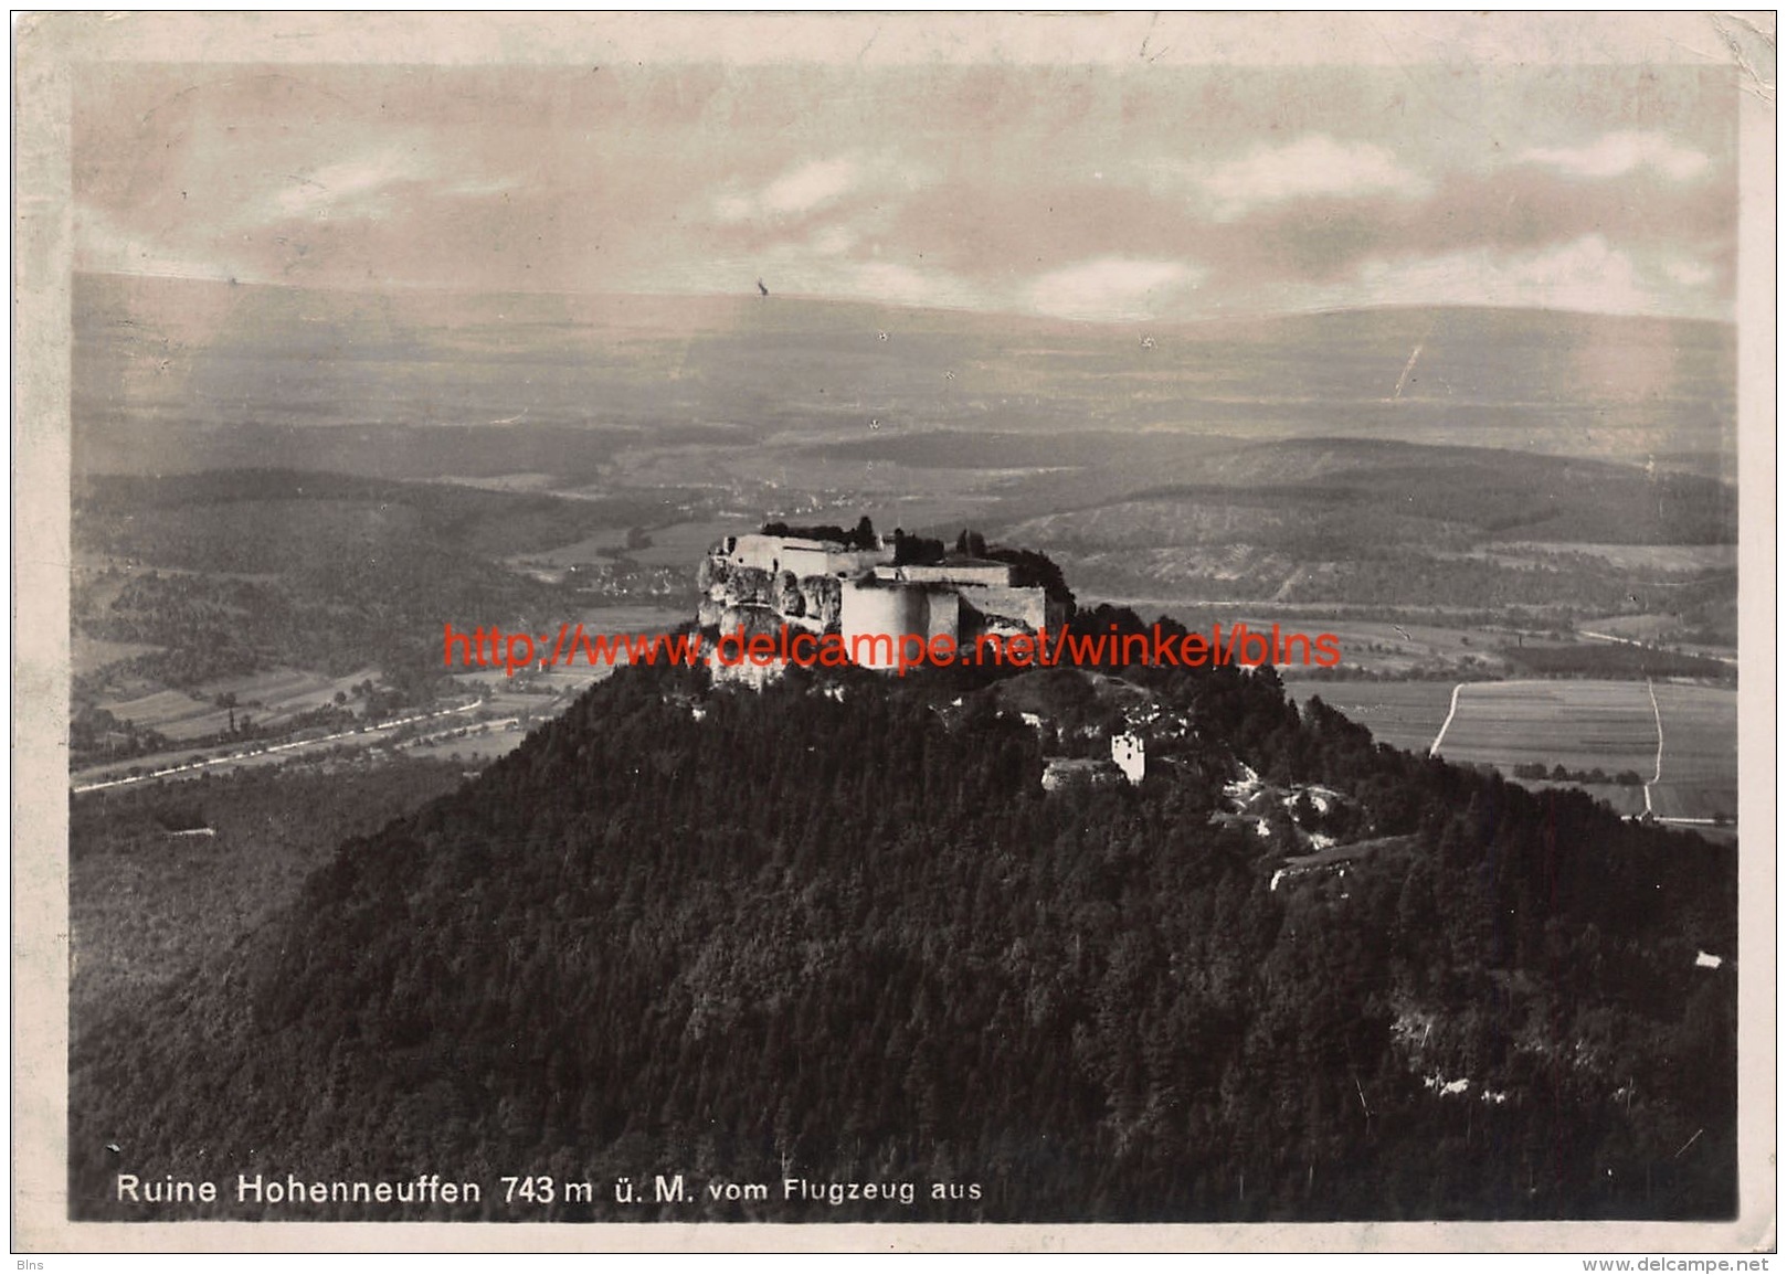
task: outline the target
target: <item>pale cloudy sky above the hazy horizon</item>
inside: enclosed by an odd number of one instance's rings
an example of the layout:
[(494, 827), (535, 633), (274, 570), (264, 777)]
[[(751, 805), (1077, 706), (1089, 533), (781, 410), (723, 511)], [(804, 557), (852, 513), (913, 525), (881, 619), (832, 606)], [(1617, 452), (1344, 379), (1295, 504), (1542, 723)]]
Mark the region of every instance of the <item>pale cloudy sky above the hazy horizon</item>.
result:
[(1689, 64), (109, 62), (73, 89), (75, 268), (1728, 320), (1735, 129), (1732, 71)]

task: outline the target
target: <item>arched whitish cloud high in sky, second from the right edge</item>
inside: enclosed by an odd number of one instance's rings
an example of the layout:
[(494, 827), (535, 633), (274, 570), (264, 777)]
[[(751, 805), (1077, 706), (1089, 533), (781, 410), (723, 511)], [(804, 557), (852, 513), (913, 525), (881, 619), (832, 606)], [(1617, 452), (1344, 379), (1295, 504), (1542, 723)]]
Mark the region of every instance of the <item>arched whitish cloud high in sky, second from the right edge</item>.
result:
[[(1185, 170), (1181, 170), (1185, 171)], [(1310, 134), (1285, 146), (1262, 146), (1196, 177), (1212, 216), (1233, 221), (1254, 207), (1312, 196), (1421, 198), (1433, 184), (1385, 146)]]

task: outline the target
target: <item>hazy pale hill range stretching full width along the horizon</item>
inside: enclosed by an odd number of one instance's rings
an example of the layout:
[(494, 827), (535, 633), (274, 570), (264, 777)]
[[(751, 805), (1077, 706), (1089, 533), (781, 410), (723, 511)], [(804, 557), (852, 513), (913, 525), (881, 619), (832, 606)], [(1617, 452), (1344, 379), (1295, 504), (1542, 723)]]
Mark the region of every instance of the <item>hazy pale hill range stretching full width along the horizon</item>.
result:
[[(245, 464), (234, 446), (277, 439), (284, 450), (261, 461), (352, 468), (315, 454), (332, 443), (309, 427), (500, 427), (527, 454), (538, 427), (718, 429), (736, 432), (704, 441), (743, 445), (856, 438), (874, 420), (890, 436), (1344, 436), (1667, 455), (1717, 473), (1733, 448), (1733, 332), (1498, 309), (1094, 325), (779, 295), (327, 293), (80, 275), (75, 455), (86, 470), (191, 468), (220, 452)], [(366, 459), (391, 477), (440, 473), (427, 436), (406, 438)]]

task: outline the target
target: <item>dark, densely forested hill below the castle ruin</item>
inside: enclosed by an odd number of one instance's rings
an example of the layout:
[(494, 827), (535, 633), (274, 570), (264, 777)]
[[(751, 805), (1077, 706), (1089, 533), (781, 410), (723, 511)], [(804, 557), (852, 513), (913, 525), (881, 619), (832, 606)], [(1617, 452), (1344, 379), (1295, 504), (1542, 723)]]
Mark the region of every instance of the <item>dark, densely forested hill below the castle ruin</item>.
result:
[[(1271, 671), (1135, 680), (1192, 730), (1140, 786), (1045, 793), (1047, 723), (967, 671), (751, 693), (622, 670), (343, 845), (154, 1018), (84, 1034), (71, 1212), (1733, 1211), (1735, 852), (1374, 746)], [(1344, 871), (1212, 821), (1237, 762), (1344, 795)], [(222, 1198), (148, 1212), (118, 1173)], [(484, 1193), (239, 1205), (238, 1173)], [(684, 1204), (617, 1202), (677, 1173)], [(504, 1175), (593, 1193), (506, 1204)], [(915, 1196), (786, 1200), (790, 1179)]]

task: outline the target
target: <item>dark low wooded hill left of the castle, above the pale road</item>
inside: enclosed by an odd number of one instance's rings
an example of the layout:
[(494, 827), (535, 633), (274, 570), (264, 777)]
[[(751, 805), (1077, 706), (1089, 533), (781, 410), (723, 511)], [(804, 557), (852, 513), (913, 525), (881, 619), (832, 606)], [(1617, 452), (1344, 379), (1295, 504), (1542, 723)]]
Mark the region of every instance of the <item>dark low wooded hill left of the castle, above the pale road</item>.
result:
[(109, 582), (77, 588), (75, 623), (159, 648), (130, 668), (175, 686), (375, 664), (424, 695), (441, 677), (443, 621), (570, 614), (563, 591), (504, 559), (625, 527), (654, 504), (306, 470), (79, 479), (71, 543)]

